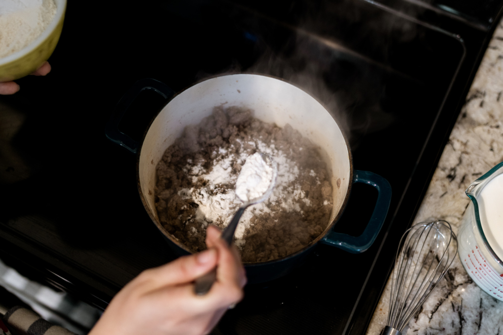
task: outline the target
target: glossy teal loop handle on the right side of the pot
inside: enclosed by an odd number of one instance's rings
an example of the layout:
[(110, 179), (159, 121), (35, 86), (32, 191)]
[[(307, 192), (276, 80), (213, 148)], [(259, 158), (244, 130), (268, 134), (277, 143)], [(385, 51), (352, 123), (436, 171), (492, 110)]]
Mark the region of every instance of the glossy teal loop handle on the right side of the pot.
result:
[(382, 228), (386, 214), (391, 202), (391, 185), (383, 177), (369, 172), (356, 170), (353, 175), (353, 183), (364, 183), (371, 185), (379, 192), (377, 202), (372, 212), (367, 227), (362, 235), (354, 237), (347, 234), (330, 232), (320, 242), (337, 248), (341, 248), (353, 254), (363, 253), (374, 243), (377, 234)]

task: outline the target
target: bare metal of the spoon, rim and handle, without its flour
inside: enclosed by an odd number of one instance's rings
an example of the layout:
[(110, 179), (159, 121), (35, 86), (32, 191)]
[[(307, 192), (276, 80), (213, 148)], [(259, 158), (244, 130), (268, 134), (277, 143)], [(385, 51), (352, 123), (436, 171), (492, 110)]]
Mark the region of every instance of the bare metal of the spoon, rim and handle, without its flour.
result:
[[(232, 220), (230, 220), (229, 225), (224, 229), (222, 232), (222, 235), (220, 238), (227, 242), (227, 245), (230, 246), (232, 243), (232, 238), (234, 237), (234, 232), (236, 230), (237, 224), (239, 223), (239, 219), (241, 218), (241, 215), (244, 213), (244, 210), (253, 204), (262, 202), (266, 200), (269, 195), (271, 195), (271, 192), (273, 191), (274, 185), (276, 184), (276, 177), (278, 176), (278, 164), (276, 161), (268, 154), (260, 153), (262, 156), (262, 159), (266, 162), (267, 165), (269, 165), (273, 169), (273, 177), (271, 178), (271, 183), (269, 184), (269, 187), (267, 190), (260, 196), (254, 199), (248, 199), (248, 201), (244, 202), (238, 209), (237, 212), (234, 214), (232, 217)], [(194, 292), (197, 295), (205, 295), (208, 293), (210, 290), (211, 286), (215, 282), (217, 277), (217, 269), (214, 268), (212, 271), (208, 272), (207, 274), (199, 277), (196, 279), (195, 285), (194, 285)]]

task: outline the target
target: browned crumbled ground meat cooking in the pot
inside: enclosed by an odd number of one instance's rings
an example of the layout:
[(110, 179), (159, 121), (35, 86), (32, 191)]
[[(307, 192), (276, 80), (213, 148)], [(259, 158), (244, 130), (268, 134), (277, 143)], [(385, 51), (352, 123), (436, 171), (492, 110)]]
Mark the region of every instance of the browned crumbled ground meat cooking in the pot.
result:
[[(273, 146), (274, 150), (284, 153), (283, 157), (295, 162), (298, 175), (285, 184), (285, 197), (272, 196), (264, 202), (267, 211), (247, 209), (253, 215), (247, 222), (243, 239), (238, 241), (243, 261), (277, 259), (316, 239), (326, 228), (332, 210), (330, 176), (319, 148), (289, 125), (279, 128), (266, 124), (252, 118), (251, 110), (237, 107), (225, 110), (217, 107), (213, 115), (198, 126), (187, 127), (157, 164), (155, 206), (163, 227), (193, 251), (204, 250), (208, 223), (224, 228), (231, 216), (212, 222), (204, 221), (206, 218), (201, 219), (201, 215), (198, 219), (198, 200), (190, 194), (197, 197), (198, 190), (204, 190), (207, 196), (233, 194), (234, 183), (208, 185), (201, 176), (211, 173), (215, 162), (222, 160), (230, 162), (232, 168), (228, 170), (237, 176), (244, 164), (239, 157), (257, 152), (259, 142)], [(340, 183), (339, 179), (338, 187)], [(237, 210), (239, 203), (235, 206), (228, 212)]]

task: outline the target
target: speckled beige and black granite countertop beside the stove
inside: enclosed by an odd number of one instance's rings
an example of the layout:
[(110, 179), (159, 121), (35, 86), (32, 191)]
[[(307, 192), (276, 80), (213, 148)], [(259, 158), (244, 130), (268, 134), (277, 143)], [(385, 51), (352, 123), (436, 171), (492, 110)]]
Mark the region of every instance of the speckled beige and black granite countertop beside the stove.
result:
[[(444, 219), (455, 233), (469, 199), (465, 189), (503, 161), (503, 20), (496, 28), (475, 75), (449, 142), (444, 148), (414, 224)], [(402, 331), (407, 335), (503, 334), (503, 302), (472, 282), (459, 257)], [(386, 325), (390, 281), (367, 330)]]

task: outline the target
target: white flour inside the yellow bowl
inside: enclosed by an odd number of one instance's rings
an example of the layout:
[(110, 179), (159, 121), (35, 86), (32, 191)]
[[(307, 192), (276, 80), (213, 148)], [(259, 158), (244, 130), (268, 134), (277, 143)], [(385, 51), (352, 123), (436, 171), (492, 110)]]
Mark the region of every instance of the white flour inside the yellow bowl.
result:
[(0, 58), (35, 41), (55, 15), (54, 0), (1, 0)]

